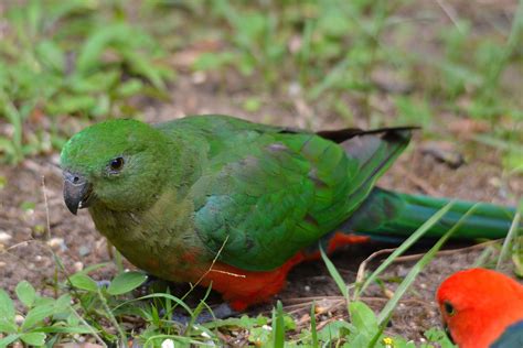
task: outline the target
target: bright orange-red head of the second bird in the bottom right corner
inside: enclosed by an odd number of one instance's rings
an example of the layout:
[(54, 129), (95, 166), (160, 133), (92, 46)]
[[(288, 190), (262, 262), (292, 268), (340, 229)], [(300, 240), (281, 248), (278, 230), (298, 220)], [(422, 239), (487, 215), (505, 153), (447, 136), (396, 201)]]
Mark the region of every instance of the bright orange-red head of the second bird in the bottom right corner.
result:
[(436, 300), (451, 340), (459, 347), (488, 347), (505, 327), (523, 318), (523, 291), (511, 278), (487, 269), (450, 275)]

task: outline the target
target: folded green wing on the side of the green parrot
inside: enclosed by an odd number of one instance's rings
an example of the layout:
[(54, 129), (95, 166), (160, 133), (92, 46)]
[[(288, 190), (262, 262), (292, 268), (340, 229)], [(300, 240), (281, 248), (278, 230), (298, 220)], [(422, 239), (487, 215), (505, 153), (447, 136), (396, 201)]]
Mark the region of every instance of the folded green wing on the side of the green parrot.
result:
[(340, 225), (409, 140), (391, 131), (337, 144), (222, 116), (183, 122), (207, 149), (190, 189), (196, 232), (213, 253), (223, 247), (222, 262), (252, 271), (280, 267)]

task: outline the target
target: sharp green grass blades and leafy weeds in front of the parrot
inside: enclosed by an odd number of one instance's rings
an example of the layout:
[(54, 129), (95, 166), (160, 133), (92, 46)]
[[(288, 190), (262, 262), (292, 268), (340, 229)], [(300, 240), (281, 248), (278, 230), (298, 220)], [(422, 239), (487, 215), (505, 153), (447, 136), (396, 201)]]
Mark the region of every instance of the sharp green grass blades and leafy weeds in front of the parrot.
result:
[[(430, 226), (437, 224), (450, 205), (451, 203), (436, 213), (415, 235), (423, 235)], [(472, 209), (461, 220), (466, 219)], [(514, 224), (516, 222), (517, 217), (514, 219)], [(183, 301), (185, 296), (179, 298), (171, 295), (169, 291), (136, 297), (134, 291), (147, 280), (141, 272), (119, 273), (107, 286), (100, 286), (89, 276), (89, 273), (107, 264), (97, 264), (75, 274), (65, 273), (65, 281), (55, 284), (55, 297), (40, 295), (25, 281), (19, 283), (15, 295), (23, 306), (22, 309), (17, 309), (14, 301), (6, 291), (0, 290), (0, 331), (4, 333), (4, 336), (0, 338), (0, 346), (20, 340), (25, 345), (51, 347), (54, 344), (78, 341), (81, 337), (84, 339), (90, 337), (90, 341), (100, 346), (124, 347), (132, 339), (145, 347), (164, 347), (170, 344), (175, 347), (207, 347), (220, 345), (223, 335), (242, 330), (247, 335), (249, 342), (262, 347), (338, 347), (345, 344), (354, 347), (416, 347), (414, 342), (403, 337), (386, 335), (386, 324), (401, 298), (415, 282), (417, 274), (436, 255), (459, 224), (460, 221), (413, 265), (378, 315), (361, 300), (350, 300), (348, 289), (359, 289), (356, 296), (361, 296), (364, 287), (354, 287), (357, 284), (345, 284), (322, 250), (321, 255), (329, 273), (346, 302), (350, 320), (328, 322), (320, 329), (317, 326), (316, 305), (312, 303), (310, 329), (302, 329), (299, 333), (296, 331), (295, 319), (285, 313), (279, 301), (270, 317), (244, 315), (239, 318), (214, 319), (199, 324), (196, 317), (204, 307), (209, 308), (205, 298), (211, 289), (196, 308), (191, 309)], [(407, 240), (398, 247), (398, 250), (410, 246), (412, 242)], [(392, 264), (396, 258), (397, 254), (392, 254), (384, 264)], [(57, 263), (61, 265), (60, 261)], [(65, 272), (65, 269), (60, 269), (61, 272)], [(376, 269), (367, 280), (376, 279), (381, 272), (383, 272), (382, 267)], [(177, 308), (186, 313), (188, 325), (172, 318)], [(425, 336), (427, 342), (421, 347), (429, 348), (435, 345), (452, 347), (439, 329), (430, 328)]]

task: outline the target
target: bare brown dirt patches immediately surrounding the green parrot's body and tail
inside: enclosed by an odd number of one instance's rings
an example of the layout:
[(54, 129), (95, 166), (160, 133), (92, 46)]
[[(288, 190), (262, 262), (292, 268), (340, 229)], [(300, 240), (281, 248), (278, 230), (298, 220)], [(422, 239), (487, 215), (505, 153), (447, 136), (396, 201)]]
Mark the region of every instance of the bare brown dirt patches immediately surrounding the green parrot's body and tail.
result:
[[(281, 100), (264, 100), (260, 110), (248, 113), (241, 107), (245, 96), (242, 90), (220, 90), (212, 77), (181, 76), (172, 86), (172, 100), (166, 104), (151, 104), (146, 112), (147, 121), (162, 121), (193, 113), (227, 113), (256, 121), (332, 129), (346, 127), (341, 119), (320, 115), (312, 117), (313, 110), (301, 101), (290, 104)], [(139, 102), (145, 102), (141, 100)], [(306, 117), (296, 117), (297, 115)], [(309, 116), (309, 117), (307, 117)], [(441, 118), (438, 131), (453, 131), (455, 138), (467, 127), (466, 122), (451, 117)], [(365, 126), (365, 124), (359, 124)], [(81, 128), (71, 123), (66, 127)], [(420, 131), (423, 132), (423, 131)], [(417, 134), (409, 150), (382, 178), (381, 186), (408, 193), (424, 193), (437, 196), (452, 196), (463, 199), (494, 202), (503, 205), (514, 204), (511, 197), (521, 196), (523, 180), (506, 178), (500, 166), (500, 154), (491, 148), (473, 144), (467, 139), (451, 143), (451, 151), (465, 156), (466, 163), (451, 168), (447, 163), (427, 154), (425, 149), (434, 143), (424, 141)], [(439, 148), (446, 144), (437, 143)], [(447, 144), (448, 145), (448, 144)], [(6, 184), (0, 188), (0, 285), (12, 291), (15, 284), (28, 280), (43, 292), (51, 292), (56, 272), (53, 259), (62, 260), (67, 272), (73, 273), (86, 265), (109, 260), (106, 241), (95, 230), (86, 210), (78, 216), (71, 215), (62, 198), (62, 176), (58, 168), (58, 154), (26, 159), (17, 167), (0, 166), (0, 176)], [(43, 185), (43, 182), (45, 185)], [(45, 186), (45, 196), (44, 189)], [(49, 209), (47, 209), (49, 208)], [(49, 216), (49, 218), (47, 218)], [(51, 237), (44, 240), (45, 230)], [(370, 243), (349, 247), (333, 255), (333, 261), (348, 283), (355, 279), (360, 263), (372, 252), (391, 246)], [(419, 253), (430, 246), (418, 247)], [(450, 248), (463, 248), (458, 244)], [(419, 341), (424, 330), (439, 325), (439, 315), (434, 302), (437, 285), (453, 271), (470, 268), (482, 253), (482, 248), (447, 252), (437, 258), (417, 279), (414, 287), (402, 302), (387, 329), (391, 334), (402, 334)], [(372, 269), (376, 262), (369, 267)], [(394, 291), (394, 279), (406, 275), (413, 261), (396, 262), (383, 275), (386, 287)], [(115, 268), (107, 268), (95, 274), (107, 279)], [(58, 275), (62, 278), (62, 275)], [(180, 287), (179, 292), (184, 290)], [(378, 286), (371, 287), (364, 300), (376, 311), (387, 301), (386, 293)], [(320, 326), (327, 322), (346, 317), (340, 293), (329, 276), (322, 262), (311, 262), (291, 271), (286, 290), (279, 295), (286, 311), (292, 313), (299, 325), (308, 326), (310, 304), (313, 300), (324, 314)], [(269, 311), (270, 305), (252, 309), (252, 314)]]

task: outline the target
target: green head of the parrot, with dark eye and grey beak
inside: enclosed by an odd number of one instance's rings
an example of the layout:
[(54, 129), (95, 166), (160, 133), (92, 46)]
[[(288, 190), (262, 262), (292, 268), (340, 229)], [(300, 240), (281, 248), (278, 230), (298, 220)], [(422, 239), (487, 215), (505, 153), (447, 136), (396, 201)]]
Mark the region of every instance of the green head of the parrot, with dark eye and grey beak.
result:
[(90, 126), (62, 149), (64, 200), (71, 213), (95, 204), (111, 210), (147, 207), (169, 173), (164, 135), (136, 120)]

